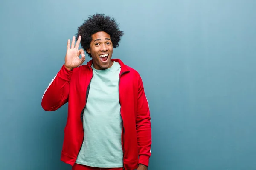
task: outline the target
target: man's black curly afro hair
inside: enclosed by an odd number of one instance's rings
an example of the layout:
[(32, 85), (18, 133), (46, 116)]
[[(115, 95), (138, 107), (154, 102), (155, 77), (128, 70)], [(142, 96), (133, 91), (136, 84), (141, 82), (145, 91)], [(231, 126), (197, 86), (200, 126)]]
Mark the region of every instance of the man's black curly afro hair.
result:
[(124, 34), (123, 31), (119, 30), (119, 25), (114, 18), (105, 16), (104, 14), (93, 14), (92, 16), (89, 16), (89, 18), (84, 20), (84, 23), (78, 27), (76, 40), (79, 35), (81, 35), (81, 47), (90, 57), (92, 56), (86, 49), (90, 49), (90, 43), (92, 41), (91, 36), (101, 31), (110, 35), (113, 48), (119, 46), (121, 37)]

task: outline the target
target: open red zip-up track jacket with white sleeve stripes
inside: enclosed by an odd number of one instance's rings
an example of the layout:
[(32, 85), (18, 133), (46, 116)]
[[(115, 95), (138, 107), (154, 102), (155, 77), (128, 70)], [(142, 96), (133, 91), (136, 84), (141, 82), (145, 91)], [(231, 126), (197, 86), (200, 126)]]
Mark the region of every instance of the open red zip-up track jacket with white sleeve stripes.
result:
[[(121, 65), (119, 102), (123, 121), (124, 169), (134, 170), (137, 169), (138, 164), (148, 166), (151, 156), (151, 118), (148, 101), (139, 73), (119, 59), (112, 61)], [(87, 65), (81, 65), (72, 71), (67, 70), (63, 65), (44, 92), (41, 103), (44, 110), (55, 111), (68, 102), (61, 161), (72, 166), (84, 139), (83, 112), (93, 77), (92, 63), (91, 60)]]

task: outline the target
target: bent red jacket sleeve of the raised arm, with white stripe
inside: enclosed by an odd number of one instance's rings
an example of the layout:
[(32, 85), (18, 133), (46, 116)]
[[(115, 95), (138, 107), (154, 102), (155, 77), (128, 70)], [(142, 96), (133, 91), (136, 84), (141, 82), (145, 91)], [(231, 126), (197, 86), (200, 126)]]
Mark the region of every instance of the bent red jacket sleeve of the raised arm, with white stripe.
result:
[(55, 111), (68, 102), (70, 77), (73, 71), (62, 65), (61, 70), (52, 79), (44, 91), (41, 106), (45, 111)]

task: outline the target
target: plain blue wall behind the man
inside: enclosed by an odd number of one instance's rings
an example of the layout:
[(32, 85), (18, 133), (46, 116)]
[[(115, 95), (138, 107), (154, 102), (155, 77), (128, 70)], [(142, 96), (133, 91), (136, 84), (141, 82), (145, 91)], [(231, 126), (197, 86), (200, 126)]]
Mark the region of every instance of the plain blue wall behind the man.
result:
[(67, 105), (46, 112), (41, 97), (67, 39), (96, 12), (120, 23), (113, 58), (143, 79), (149, 170), (255, 170), (255, 9), (255, 0), (2, 0), (0, 170), (70, 170), (60, 161)]

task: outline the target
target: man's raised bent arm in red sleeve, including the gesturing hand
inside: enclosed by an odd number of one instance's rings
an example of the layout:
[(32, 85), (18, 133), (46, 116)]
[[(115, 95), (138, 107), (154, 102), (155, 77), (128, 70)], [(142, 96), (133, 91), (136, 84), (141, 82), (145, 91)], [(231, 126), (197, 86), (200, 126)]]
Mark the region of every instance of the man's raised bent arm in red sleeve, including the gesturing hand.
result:
[[(49, 84), (42, 98), (41, 105), (44, 110), (55, 111), (67, 103), (72, 70), (85, 61), (84, 51), (82, 49), (78, 50), (80, 41), (81, 36), (79, 36), (75, 46), (75, 37), (73, 36), (71, 47), (70, 40), (67, 41), (65, 64)], [(82, 56), (81, 59), (79, 58), (80, 54)]]

